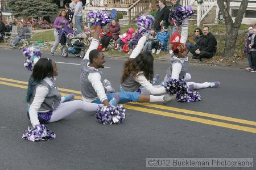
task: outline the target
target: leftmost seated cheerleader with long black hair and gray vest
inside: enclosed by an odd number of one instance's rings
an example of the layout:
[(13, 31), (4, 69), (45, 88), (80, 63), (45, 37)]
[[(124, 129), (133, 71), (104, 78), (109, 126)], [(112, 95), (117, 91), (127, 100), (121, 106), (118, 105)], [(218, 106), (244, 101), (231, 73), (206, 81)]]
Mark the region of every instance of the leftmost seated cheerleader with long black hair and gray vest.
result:
[(96, 111), (98, 104), (73, 100), (74, 95), (62, 96), (55, 86), (58, 67), (49, 58), (40, 58), (36, 62), (27, 88), (27, 113), (33, 127), (55, 122), (82, 109)]

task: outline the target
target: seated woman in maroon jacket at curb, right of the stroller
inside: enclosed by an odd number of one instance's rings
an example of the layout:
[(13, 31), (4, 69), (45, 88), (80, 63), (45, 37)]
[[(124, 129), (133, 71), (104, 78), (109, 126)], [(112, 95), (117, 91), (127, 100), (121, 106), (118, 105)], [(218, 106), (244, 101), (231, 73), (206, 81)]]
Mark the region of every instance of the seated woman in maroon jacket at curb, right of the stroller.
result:
[(120, 33), (120, 27), (116, 20), (112, 20), (112, 23), (106, 27), (106, 34), (101, 39), (102, 51), (105, 52), (109, 46), (111, 39), (117, 40)]

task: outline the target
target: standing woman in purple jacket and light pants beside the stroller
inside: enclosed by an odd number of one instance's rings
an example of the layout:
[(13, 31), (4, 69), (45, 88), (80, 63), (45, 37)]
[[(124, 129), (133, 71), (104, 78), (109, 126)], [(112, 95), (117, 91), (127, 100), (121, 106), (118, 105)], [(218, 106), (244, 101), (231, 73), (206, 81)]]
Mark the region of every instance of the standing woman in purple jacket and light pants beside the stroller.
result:
[[(53, 32), (55, 37), (55, 42), (51, 49), (51, 55), (54, 56), (54, 52), (57, 49), (57, 46), (60, 43), (61, 37), (63, 35), (63, 31), (70, 28), (70, 25), (68, 24), (68, 14), (66, 10), (61, 10), (59, 16), (55, 19), (53, 26), (55, 27), (55, 30)], [(68, 34), (69, 32), (67, 32)]]

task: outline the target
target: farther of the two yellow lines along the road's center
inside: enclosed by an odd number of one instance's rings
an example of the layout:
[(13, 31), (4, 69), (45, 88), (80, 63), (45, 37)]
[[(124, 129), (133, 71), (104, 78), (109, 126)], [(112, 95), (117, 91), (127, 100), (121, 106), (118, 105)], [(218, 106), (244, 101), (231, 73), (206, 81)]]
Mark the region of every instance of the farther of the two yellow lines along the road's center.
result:
[[(19, 81), (19, 80), (14, 80), (14, 79), (8, 79), (8, 78), (1, 78), (0, 80), (6, 80), (9, 82), (15, 82), (15, 83), (22, 83), (22, 84), (28, 84), (27, 82), (23, 82), (23, 81)], [(9, 83), (12, 84), (12, 83)], [(8, 84), (6, 84), (8, 85)], [(8, 85), (11, 86), (11, 85)], [(14, 84), (15, 87), (18, 87), (20, 85)], [(22, 86), (25, 87), (25, 86)], [(27, 88), (27, 87), (26, 87)], [(67, 88), (59, 88), (58, 89), (60, 91), (64, 91), (64, 92), (72, 92), (74, 94), (79, 94), (81, 95), (80, 91), (75, 91), (75, 90), (70, 90)], [(81, 96), (75, 96), (75, 99), (81, 99)], [(166, 107), (164, 105), (158, 105), (158, 104), (151, 104), (151, 103), (134, 103), (134, 102), (130, 102), (131, 104), (137, 104), (137, 105), (143, 105), (146, 107), (151, 107), (151, 108), (159, 108), (159, 109), (164, 109), (167, 111), (175, 111), (175, 112), (180, 112), (180, 113), (187, 113), (187, 114), (193, 114), (193, 115), (197, 115), (197, 116), (203, 116), (203, 117), (210, 117), (210, 118), (215, 118), (218, 120), (225, 120), (225, 121), (230, 121), (230, 122), (237, 122), (240, 124), (246, 124), (246, 125), (253, 125), (256, 126), (256, 122), (255, 121), (249, 121), (249, 120), (243, 120), (243, 119), (239, 119), (239, 118), (233, 118), (233, 117), (228, 117), (228, 116), (220, 116), (218, 114), (210, 114), (210, 113), (204, 113), (204, 112), (196, 112), (196, 111), (190, 111), (187, 109), (179, 109), (179, 108), (174, 108), (174, 107)]]

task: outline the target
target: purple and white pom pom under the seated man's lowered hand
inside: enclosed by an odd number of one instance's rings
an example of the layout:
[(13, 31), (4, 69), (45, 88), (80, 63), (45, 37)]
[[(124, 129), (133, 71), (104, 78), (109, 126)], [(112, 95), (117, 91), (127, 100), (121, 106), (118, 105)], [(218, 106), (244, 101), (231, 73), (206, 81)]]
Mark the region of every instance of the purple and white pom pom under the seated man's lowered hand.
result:
[(126, 116), (125, 111), (126, 109), (122, 104), (118, 104), (117, 107), (99, 106), (95, 117), (100, 124), (120, 124)]

